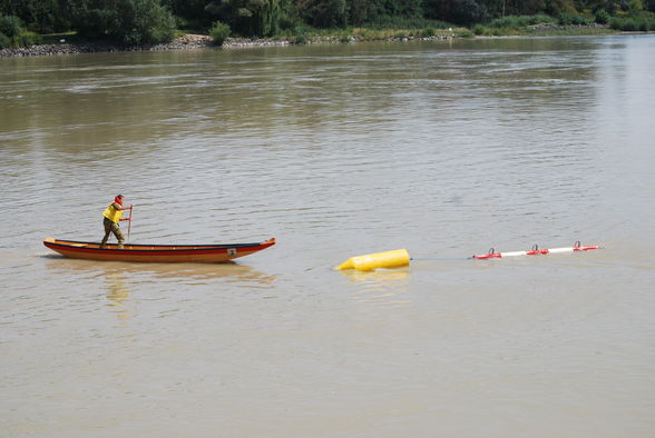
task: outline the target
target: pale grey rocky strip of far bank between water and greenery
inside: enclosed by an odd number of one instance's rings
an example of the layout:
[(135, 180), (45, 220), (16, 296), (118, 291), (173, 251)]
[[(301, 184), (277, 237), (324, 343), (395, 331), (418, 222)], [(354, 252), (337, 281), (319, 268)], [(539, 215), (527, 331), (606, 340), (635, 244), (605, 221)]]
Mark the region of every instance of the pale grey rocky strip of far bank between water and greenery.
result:
[[(453, 39), (454, 36), (434, 36), (434, 37), (405, 37), (405, 38), (390, 38), (384, 41), (410, 41), (410, 40), (444, 40)], [(309, 39), (305, 43), (342, 43), (342, 42), (356, 42), (356, 37), (319, 37)], [(239, 39), (228, 38), (223, 48), (254, 48), (254, 47), (272, 47), (272, 46), (290, 46), (294, 42), (285, 39)], [(110, 43), (100, 42), (87, 42), (87, 43), (59, 43), (59, 44), (36, 44), (31, 47), (21, 47), (16, 49), (2, 49), (0, 50), (0, 58), (8, 57), (40, 57), (40, 56), (53, 56), (53, 54), (76, 54), (76, 53), (96, 53), (96, 52), (124, 52), (124, 51), (160, 51), (160, 50), (189, 50), (189, 49), (207, 49), (214, 48), (212, 37), (203, 34), (185, 34), (174, 39), (170, 42), (163, 44), (148, 44), (148, 46), (118, 46)]]

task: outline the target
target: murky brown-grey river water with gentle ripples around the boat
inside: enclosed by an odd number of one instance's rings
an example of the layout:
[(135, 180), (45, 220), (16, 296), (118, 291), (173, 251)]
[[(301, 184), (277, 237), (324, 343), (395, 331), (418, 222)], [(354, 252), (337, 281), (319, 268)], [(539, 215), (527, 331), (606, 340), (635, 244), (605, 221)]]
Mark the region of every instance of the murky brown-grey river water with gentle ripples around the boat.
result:
[(655, 36), (0, 59), (0, 436), (653, 437), (654, 139)]

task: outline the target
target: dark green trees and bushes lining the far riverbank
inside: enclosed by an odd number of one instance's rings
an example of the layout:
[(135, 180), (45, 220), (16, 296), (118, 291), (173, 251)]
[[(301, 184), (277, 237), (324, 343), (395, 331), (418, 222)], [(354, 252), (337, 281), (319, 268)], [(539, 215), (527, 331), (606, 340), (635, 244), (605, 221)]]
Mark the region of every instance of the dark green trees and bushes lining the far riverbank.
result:
[[(567, 24), (594, 20), (615, 29), (652, 30), (649, 12), (655, 12), (655, 0), (0, 0), (0, 16), (17, 17), (23, 31), (77, 30), (81, 38), (124, 44), (165, 41), (175, 27), (207, 32), (216, 21), (244, 37), (299, 34), (293, 30), (307, 27), (440, 29), (475, 24), (483, 26), (475, 31), (501, 33), (553, 23), (550, 17)], [(16, 28), (11, 29), (2, 34), (13, 43)]]

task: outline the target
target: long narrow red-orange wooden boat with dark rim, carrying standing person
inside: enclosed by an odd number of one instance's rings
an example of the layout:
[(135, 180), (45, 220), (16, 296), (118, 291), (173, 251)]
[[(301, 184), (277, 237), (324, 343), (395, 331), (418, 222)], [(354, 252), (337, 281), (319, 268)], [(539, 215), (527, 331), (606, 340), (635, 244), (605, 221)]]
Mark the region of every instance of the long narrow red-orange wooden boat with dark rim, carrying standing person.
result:
[(135, 262), (197, 262), (216, 263), (248, 256), (275, 245), (275, 238), (258, 243), (228, 245), (125, 245), (117, 249), (116, 243), (100, 248), (100, 243), (79, 242), (48, 238), (43, 245), (63, 257), (104, 261)]

